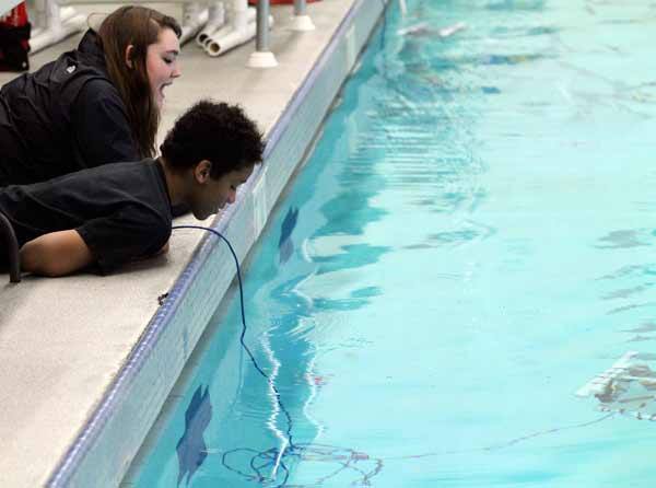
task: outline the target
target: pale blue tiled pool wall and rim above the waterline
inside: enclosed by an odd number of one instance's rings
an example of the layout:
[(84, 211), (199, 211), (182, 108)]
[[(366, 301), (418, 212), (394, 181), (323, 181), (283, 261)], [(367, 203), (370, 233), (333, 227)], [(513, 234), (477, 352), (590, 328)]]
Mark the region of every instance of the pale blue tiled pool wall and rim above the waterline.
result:
[[(270, 130), (263, 165), (244, 185), (235, 205), (214, 222), (214, 229), (232, 242), (241, 262), (311, 148), (389, 1), (353, 3)], [(206, 235), (47, 486), (89, 488), (120, 483), (234, 277), (234, 262), (225, 244), (214, 235)]]

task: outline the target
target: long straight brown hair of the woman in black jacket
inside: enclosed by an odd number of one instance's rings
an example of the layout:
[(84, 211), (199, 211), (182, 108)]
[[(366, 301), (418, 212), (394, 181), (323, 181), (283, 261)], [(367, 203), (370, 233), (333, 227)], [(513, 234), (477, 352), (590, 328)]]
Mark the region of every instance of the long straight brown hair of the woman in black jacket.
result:
[[(109, 79), (118, 90), (142, 158), (155, 155), (155, 137), (160, 111), (153, 98), (145, 68), (148, 46), (155, 44), (163, 28), (176, 36), (181, 30), (177, 21), (147, 7), (126, 5), (109, 14), (98, 30)], [(126, 65), (126, 49), (132, 45), (132, 67)]]

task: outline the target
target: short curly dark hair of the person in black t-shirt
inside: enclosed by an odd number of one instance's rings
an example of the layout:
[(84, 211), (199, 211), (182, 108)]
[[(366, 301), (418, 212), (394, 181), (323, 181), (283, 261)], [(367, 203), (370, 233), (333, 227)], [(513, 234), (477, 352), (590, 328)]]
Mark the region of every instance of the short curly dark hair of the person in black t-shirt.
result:
[(210, 176), (219, 179), (260, 163), (265, 142), (242, 107), (202, 100), (175, 121), (160, 150), (174, 171), (208, 160), (212, 163)]

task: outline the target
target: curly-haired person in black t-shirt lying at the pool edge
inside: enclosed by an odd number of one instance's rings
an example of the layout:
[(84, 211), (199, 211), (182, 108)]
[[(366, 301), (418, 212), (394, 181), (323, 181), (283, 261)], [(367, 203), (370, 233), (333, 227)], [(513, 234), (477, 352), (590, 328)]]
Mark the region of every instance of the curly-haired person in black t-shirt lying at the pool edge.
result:
[[(234, 202), (261, 162), (263, 141), (241, 107), (201, 101), (177, 119), (161, 151), (159, 160), (0, 189), (23, 270), (62, 276), (97, 265), (106, 274), (159, 254), (171, 236), (171, 207), (186, 205), (202, 220)], [(0, 253), (5, 259), (7, 249)]]

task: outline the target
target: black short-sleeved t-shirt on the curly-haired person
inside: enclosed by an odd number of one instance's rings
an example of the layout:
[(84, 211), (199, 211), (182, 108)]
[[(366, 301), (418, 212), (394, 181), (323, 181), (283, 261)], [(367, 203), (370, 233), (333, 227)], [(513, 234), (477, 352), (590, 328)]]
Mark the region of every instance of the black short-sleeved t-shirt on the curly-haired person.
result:
[(102, 272), (157, 253), (171, 236), (166, 175), (153, 160), (8, 186), (0, 189), (0, 212), (19, 246), (50, 232), (77, 230)]

